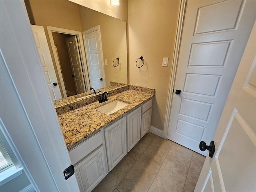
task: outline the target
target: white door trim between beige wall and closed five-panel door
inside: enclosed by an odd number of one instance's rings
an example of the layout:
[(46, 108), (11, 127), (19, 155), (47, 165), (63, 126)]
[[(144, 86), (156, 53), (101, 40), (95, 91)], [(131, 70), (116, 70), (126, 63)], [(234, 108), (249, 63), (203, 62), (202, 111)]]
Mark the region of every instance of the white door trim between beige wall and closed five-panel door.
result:
[(175, 45), (174, 45), (174, 56), (173, 56), (173, 60), (172, 60), (172, 74), (171, 74), (171, 78), (170, 78), (166, 113), (165, 113), (165, 118), (164, 118), (163, 138), (165, 138), (165, 139), (167, 138), (168, 127), (169, 127), (169, 122), (170, 122), (173, 90), (174, 90), (174, 84), (175, 84), (175, 79), (176, 79), (176, 72), (177, 72), (177, 68), (178, 68), (180, 42), (181, 42), (181, 37), (182, 37), (186, 5), (187, 5), (187, 0), (180, 1), (180, 11), (179, 11), (179, 18), (178, 18), (178, 25), (177, 25), (177, 32), (176, 32), (176, 40), (175, 40)]

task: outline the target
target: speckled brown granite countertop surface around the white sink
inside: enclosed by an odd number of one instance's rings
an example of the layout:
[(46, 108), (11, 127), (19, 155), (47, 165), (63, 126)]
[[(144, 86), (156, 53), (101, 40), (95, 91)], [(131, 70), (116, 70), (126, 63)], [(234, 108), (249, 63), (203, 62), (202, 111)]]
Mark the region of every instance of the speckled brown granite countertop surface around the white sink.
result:
[[(146, 102), (154, 96), (153, 92), (143, 92), (136, 89), (129, 89), (124, 92), (108, 97), (108, 101), (104, 103), (94, 102), (86, 106), (82, 106), (70, 112), (60, 114), (58, 116), (63, 136), (68, 149), (72, 148), (79, 142), (82, 142), (88, 136), (97, 132), (104, 126), (110, 124), (118, 117), (129, 112), (136, 106)], [(103, 106), (114, 100), (120, 100), (128, 103), (128, 106), (106, 115), (96, 108)]]

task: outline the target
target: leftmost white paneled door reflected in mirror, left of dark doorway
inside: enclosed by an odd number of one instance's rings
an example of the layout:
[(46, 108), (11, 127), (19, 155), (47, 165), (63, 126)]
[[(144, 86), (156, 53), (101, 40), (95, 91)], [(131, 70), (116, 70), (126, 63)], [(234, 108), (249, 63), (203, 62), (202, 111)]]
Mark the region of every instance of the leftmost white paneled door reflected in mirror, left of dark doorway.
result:
[(52, 100), (62, 99), (43, 26), (31, 25)]

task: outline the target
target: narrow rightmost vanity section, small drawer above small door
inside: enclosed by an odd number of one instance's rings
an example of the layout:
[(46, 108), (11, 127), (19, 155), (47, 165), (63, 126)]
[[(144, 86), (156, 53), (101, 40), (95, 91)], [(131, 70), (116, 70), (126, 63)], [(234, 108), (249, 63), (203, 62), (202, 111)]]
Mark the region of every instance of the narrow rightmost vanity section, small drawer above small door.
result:
[(144, 104), (142, 104), (141, 134), (140, 134), (141, 138), (150, 130), (152, 100), (153, 99), (150, 99), (147, 102), (145, 102)]

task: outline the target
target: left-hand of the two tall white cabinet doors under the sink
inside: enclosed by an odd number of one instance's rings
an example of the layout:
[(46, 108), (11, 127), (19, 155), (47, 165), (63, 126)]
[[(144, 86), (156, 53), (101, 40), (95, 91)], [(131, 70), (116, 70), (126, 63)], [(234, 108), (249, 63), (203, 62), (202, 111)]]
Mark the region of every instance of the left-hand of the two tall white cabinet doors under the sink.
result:
[(127, 153), (126, 117), (105, 128), (109, 171), (120, 162)]

